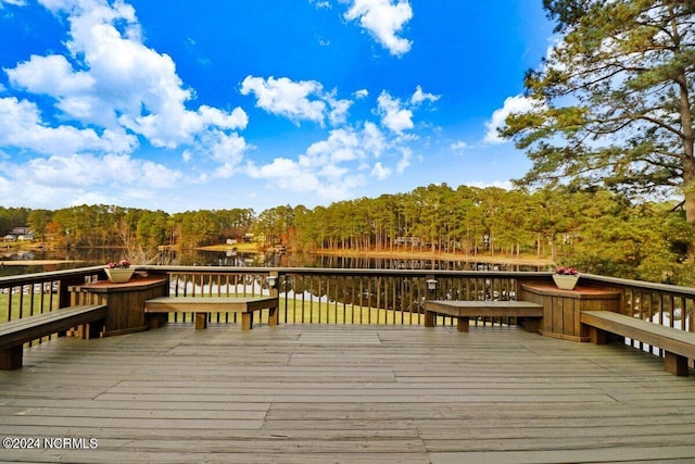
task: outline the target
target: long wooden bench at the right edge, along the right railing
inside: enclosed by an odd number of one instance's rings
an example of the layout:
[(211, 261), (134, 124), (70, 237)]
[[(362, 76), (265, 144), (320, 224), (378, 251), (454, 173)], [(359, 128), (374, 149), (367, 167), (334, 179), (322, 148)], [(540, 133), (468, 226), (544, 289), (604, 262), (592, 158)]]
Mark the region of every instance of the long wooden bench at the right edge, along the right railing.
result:
[(594, 343), (606, 343), (608, 335), (616, 334), (662, 349), (664, 367), (671, 374), (687, 375), (687, 360), (695, 358), (694, 333), (611, 311), (583, 311), (581, 322), (589, 326), (589, 338)]

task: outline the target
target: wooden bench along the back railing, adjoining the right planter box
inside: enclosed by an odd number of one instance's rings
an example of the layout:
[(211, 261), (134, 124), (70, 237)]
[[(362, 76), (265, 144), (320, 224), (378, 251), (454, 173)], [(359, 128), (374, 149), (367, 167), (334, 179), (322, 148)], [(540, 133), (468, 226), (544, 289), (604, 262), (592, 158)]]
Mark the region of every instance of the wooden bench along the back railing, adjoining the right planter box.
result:
[(458, 319), (458, 331), (468, 331), (470, 317), (516, 317), (527, 331), (538, 331), (543, 306), (529, 301), (446, 301), (425, 302), (425, 327), (434, 327), (437, 315)]

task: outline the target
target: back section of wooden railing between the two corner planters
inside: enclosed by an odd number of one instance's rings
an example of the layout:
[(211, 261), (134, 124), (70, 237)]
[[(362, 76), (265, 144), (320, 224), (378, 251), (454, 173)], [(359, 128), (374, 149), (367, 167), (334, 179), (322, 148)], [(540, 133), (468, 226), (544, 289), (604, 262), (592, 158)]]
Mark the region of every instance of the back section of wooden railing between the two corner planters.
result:
[[(427, 299), (514, 300), (520, 283), (551, 279), (547, 273), (419, 269), (148, 266), (142, 271), (167, 274), (172, 294), (253, 297), (277, 291), (280, 323), (286, 324), (417, 325), (421, 324)], [(277, 277), (273, 288), (268, 285), (270, 275)], [(433, 290), (428, 288), (428, 280), (435, 280)], [(446, 317), (441, 323), (453, 322)]]

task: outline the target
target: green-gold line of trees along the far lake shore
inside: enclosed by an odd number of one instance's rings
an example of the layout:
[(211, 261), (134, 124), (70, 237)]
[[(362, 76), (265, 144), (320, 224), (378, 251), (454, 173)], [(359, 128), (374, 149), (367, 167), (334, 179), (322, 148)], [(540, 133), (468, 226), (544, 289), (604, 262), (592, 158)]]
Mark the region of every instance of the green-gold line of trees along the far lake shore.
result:
[(634, 202), (605, 189), (533, 192), (447, 185), (327, 206), (164, 211), (80, 205), (56, 211), (0, 208), (0, 231), (29, 226), (71, 247), (195, 248), (254, 234), (264, 247), (549, 258), (582, 272), (693, 285), (693, 229), (675, 202)]

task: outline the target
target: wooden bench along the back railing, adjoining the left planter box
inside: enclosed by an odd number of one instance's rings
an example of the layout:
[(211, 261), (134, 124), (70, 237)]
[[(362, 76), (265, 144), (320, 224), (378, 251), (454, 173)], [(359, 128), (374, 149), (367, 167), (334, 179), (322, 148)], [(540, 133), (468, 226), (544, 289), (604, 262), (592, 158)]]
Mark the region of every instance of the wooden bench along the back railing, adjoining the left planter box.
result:
[[(144, 312), (151, 315), (148, 317), (151, 328), (165, 324), (168, 313), (194, 313), (197, 329), (207, 327), (210, 313), (240, 313), (241, 329), (250, 330), (254, 311), (265, 309), (269, 310), (268, 324), (278, 325), (277, 297), (160, 297), (144, 302)], [(154, 316), (157, 313), (166, 315)]]

